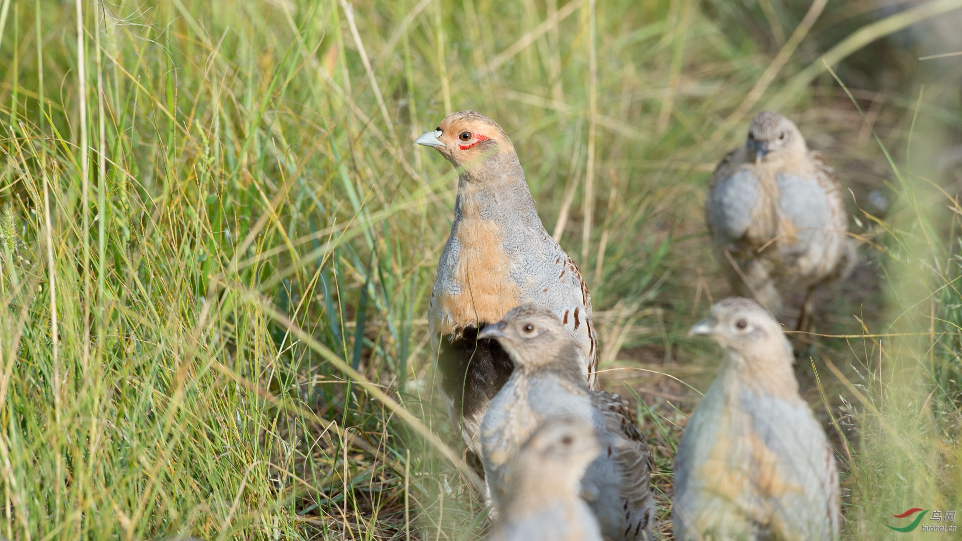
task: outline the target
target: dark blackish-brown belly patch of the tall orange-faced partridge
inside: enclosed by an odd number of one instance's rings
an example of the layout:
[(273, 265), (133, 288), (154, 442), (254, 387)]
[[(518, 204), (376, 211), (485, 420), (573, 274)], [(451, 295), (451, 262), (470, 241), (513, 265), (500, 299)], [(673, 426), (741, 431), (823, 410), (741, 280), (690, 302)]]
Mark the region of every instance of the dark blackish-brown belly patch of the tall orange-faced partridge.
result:
[(477, 334), (477, 329), (468, 327), (460, 338), (443, 336), (438, 354), (444, 393), (454, 400), (454, 409), (462, 416), (471, 415), (494, 398), (515, 368), (496, 340), (479, 340)]

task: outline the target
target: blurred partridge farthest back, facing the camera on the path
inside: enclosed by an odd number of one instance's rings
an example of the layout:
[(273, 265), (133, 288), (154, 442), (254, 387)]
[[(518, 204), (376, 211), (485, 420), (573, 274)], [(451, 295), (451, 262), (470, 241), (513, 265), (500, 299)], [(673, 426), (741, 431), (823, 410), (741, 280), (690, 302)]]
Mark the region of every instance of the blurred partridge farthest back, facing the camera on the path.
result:
[(736, 293), (778, 313), (779, 289), (807, 288), (798, 329), (807, 329), (813, 289), (844, 279), (856, 262), (835, 170), (775, 112), (759, 112), (745, 144), (715, 169), (705, 218)]

